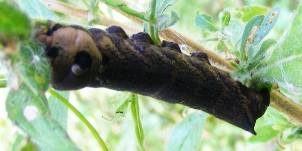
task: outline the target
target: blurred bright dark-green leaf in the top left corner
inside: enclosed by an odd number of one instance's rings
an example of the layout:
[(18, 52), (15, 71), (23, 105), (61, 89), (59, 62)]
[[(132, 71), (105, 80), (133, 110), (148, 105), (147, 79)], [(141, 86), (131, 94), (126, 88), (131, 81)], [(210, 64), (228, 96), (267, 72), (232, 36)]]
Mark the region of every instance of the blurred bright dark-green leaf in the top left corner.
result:
[(0, 2), (0, 39), (10, 40), (18, 36), (28, 39), (31, 34), (29, 18), (9, 1)]

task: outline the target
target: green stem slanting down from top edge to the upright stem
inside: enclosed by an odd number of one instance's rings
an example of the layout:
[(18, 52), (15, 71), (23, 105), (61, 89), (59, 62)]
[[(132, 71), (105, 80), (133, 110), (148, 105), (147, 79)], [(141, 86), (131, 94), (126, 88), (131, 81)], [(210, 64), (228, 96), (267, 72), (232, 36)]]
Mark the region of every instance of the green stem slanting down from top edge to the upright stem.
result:
[(100, 2), (110, 6), (110, 7), (113, 7), (113, 8), (116, 8), (118, 10), (121, 10), (131, 16), (134, 16), (134, 17), (137, 17), (141, 20), (144, 20), (147, 22), (147, 19), (145, 18), (145, 14), (144, 13), (139, 13), (137, 11), (134, 11), (132, 9), (130, 9), (126, 4), (122, 3), (122, 2), (119, 2), (119, 1), (116, 1), (116, 0), (100, 0)]

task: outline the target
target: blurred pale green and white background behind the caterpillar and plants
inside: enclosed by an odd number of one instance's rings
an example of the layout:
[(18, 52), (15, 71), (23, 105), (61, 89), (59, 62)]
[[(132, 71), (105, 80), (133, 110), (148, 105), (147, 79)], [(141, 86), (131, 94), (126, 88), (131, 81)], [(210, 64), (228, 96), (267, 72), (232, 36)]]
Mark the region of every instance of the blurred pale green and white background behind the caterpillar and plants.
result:
[[(71, 1), (63, 2), (70, 3)], [(142, 11), (147, 9), (149, 3), (149, 1), (139, 0), (128, 2)], [(279, 19), (266, 37), (278, 40), (288, 27), (291, 19), (290, 14), (294, 12), (298, 3), (299, 1), (297, 0), (180, 0), (167, 8), (165, 12), (169, 13), (171, 10), (175, 10), (180, 16), (181, 20), (172, 26), (173, 29), (201, 42), (210, 50), (216, 51), (217, 41), (209, 41), (207, 39), (216, 38), (218, 35), (217, 33), (202, 30), (194, 24), (197, 11), (210, 15), (214, 23), (220, 25), (221, 13), (227, 9), (231, 12), (231, 20), (241, 20), (241, 22), (236, 22), (239, 24), (238, 28), (229, 29), (230, 33), (234, 34), (236, 31), (243, 33), (246, 22), (254, 15), (260, 12), (266, 14), (270, 9), (281, 6)], [(84, 5), (82, 1), (80, 3), (72, 1), (71, 4), (78, 7)], [(127, 19), (120, 19), (121, 17), (110, 9), (101, 8), (101, 10), (115, 20), (123, 21), (125, 24), (133, 24)], [(247, 13), (242, 13), (244, 11), (251, 14), (246, 15)], [(77, 23), (85, 24), (84, 21), (70, 16), (62, 16), (60, 20), (72, 21), (73, 23), (75, 20)], [(8, 91), (1, 89), (0, 93), (0, 150), (10, 150), (14, 142), (14, 133), (18, 128), (7, 118), (4, 108)], [(94, 125), (109, 150), (139, 150), (130, 112), (127, 112), (124, 117), (114, 122), (104, 119), (104, 117), (110, 119), (114, 116), (115, 110), (111, 101), (122, 96), (122, 92), (103, 88), (85, 88), (71, 92), (69, 100)], [(144, 146), (147, 150), (165, 150), (177, 124), (187, 115), (195, 112), (194, 109), (182, 105), (168, 104), (143, 96), (139, 96), (139, 106), (141, 123), (145, 133)], [(67, 121), (68, 134), (81, 149), (100, 150), (99, 144), (91, 132), (73, 113), (68, 112)], [(263, 125), (269, 125), (270, 127), (264, 128), (262, 127)], [(257, 121), (255, 127), (256, 132), (269, 128), (271, 128), (271, 131), (276, 131), (275, 133), (269, 133), (272, 135), (270, 137), (272, 139), (257, 139), (247, 131), (212, 116), (207, 116), (204, 129), (200, 134), (201, 146), (196, 148), (196, 150), (299, 150), (302, 148), (300, 136), (302, 131), (299, 126), (272, 107), (268, 108), (265, 115)]]

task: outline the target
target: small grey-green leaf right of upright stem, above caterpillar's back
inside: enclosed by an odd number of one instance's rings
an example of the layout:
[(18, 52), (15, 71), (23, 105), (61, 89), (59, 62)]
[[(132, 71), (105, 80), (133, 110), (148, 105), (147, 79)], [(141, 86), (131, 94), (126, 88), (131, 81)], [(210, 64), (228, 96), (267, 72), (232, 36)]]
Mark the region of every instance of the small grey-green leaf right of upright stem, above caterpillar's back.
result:
[(171, 16), (162, 14), (157, 17), (157, 20), (159, 30), (163, 30), (167, 27), (174, 25), (177, 21), (180, 20), (180, 18), (175, 11), (171, 11)]

